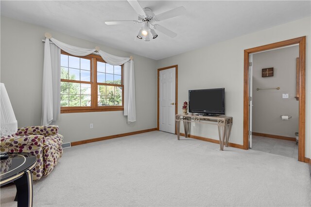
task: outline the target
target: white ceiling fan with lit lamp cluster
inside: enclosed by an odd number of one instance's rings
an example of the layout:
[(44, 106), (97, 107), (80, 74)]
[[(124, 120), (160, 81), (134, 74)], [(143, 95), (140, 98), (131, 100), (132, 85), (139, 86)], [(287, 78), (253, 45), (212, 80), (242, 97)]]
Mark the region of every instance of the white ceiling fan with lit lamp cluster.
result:
[[(175, 9), (163, 12), (159, 15), (155, 15), (150, 8), (141, 8), (137, 0), (127, 0), (129, 4), (138, 14), (138, 20), (121, 20), (121, 21), (105, 21), (106, 25), (116, 25), (116, 24), (142, 24), (137, 34), (138, 39), (143, 39), (144, 41), (150, 41), (150, 34), (153, 39), (158, 35), (155, 32), (162, 32), (169, 37), (174, 38), (177, 34), (161, 25), (155, 24), (157, 21), (165, 20), (175, 16), (179, 16), (185, 13), (186, 9), (183, 6), (177, 7)], [(151, 26), (152, 28), (151, 28)]]

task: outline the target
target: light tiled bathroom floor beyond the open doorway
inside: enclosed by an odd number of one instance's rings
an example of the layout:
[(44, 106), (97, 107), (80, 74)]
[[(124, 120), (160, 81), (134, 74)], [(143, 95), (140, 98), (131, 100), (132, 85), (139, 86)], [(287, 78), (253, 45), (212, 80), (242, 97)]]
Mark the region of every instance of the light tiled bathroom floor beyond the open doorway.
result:
[(253, 150), (298, 159), (298, 145), (296, 145), (296, 142), (254, 135), (252, 137)]

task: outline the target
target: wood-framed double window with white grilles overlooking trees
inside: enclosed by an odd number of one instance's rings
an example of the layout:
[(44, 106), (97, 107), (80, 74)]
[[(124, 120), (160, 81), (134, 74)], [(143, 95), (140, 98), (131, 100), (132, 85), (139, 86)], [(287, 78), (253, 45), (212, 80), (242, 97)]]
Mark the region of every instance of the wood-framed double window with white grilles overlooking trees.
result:
[(61, 51), (61, 113), (123, 110), (123, 65)]

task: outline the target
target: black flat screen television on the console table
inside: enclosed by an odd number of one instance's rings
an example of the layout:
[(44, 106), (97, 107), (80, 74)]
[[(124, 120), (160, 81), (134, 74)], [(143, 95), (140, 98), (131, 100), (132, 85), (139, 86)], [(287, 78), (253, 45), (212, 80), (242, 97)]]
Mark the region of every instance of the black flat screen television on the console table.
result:
[(225, 88), (189, 90), (189, 112), (200, 115), (225, 114)]

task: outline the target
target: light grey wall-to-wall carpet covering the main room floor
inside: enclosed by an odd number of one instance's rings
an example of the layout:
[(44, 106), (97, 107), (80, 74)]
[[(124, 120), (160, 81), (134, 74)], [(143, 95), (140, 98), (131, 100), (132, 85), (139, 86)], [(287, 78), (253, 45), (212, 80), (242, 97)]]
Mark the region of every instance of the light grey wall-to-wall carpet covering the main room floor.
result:
[[(311, 206), (307, 163), (153, 131), (73, 146), (34, 182), (35, 207)], [(1, 207), (17, 206), (15, 186)]]

